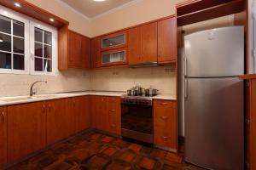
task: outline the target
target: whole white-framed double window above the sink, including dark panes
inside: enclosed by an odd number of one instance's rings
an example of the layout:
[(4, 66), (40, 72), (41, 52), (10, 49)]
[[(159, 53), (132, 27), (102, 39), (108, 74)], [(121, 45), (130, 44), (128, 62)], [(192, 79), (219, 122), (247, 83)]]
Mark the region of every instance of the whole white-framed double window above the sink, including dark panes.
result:
[(0, 73), (55, 75), (54, 27), (0, 6)]

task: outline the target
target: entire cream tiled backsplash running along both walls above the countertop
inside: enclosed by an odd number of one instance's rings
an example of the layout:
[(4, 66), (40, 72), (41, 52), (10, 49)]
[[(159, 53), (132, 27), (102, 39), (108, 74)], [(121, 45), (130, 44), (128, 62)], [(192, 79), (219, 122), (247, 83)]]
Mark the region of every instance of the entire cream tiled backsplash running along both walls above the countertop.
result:
[(84, 90), (126, 91), (139, 84), (143, 88), (160, 89), (161, 94), (176, 94), (175, 71), (172, 66), (150, 68), (119, 68), (96, 71), (57, 71), (55, 77), (0, 74), (0, 97), (28, 95), (32, 82), (38, 94)]

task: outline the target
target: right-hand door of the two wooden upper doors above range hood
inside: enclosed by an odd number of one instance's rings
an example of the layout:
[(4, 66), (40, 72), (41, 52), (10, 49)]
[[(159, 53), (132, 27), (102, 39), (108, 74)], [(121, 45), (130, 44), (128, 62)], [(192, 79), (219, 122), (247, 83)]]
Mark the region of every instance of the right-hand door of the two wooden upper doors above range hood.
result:
[(143, 63), (157, 62), (157, 22), (142, 26)]

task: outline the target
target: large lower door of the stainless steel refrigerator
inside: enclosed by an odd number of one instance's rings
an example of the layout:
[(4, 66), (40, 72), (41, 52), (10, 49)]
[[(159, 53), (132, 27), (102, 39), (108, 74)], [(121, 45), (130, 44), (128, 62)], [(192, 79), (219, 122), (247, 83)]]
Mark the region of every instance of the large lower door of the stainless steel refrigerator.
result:
[(238, 78), (185, 81), (185, 161), (214, 170), (243, 170), (243, 82)]

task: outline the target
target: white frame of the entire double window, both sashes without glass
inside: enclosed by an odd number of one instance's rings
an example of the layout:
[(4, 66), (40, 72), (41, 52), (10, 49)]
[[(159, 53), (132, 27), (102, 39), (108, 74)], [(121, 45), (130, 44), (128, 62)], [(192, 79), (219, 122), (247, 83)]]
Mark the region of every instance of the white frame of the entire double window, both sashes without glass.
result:
[[(58, 30), (54, 26), (33, 19), (25, 14), (20, 14), (10, 8), (0, 5), (0, 14), (11, 20), (17, 20), (24, 23), (24, 70), (14, 70), (0, 68), (0, 74), (26, 74), (40, 76), (55, 76), (58, 67)], [(39, 26), (38, 26), (39, 25)], [(52, 34), (52, 69), (51, 72), (34, 71), (34, 27), (38, 27)], [(13, 48), (13, 42), (11, 42)], [(13, 53), (12, 53), (13, 54)], [(12, 55), (13, 65), (13, 55)]]

